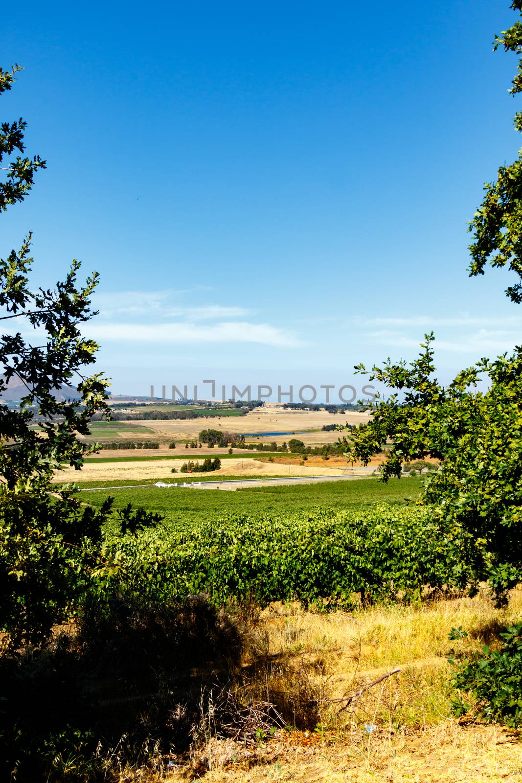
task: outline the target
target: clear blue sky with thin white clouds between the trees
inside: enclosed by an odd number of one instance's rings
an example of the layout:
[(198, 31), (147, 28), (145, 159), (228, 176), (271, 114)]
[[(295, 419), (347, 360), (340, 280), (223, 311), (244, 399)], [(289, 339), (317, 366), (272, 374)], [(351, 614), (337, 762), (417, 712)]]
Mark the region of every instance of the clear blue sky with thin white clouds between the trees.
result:
[(101, 274), (86, 333), (113, 391), (350, 383), (437, 336), (444, 380), (520, 342), (466, 222), (520, 146), (507, 0), (11, 9), (2, 120), (48, 169), (2, 217), (34, 282)]

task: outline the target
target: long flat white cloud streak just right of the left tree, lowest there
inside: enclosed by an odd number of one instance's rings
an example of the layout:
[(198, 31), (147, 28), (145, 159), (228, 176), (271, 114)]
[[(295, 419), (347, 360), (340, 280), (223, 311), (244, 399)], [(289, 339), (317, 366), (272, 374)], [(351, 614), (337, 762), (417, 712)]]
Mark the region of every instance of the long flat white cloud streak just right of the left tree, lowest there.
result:
[(96, 323), (89, 327), (89, 336), (100, 343), (149, 343), (179, 345), (186, 343), (250, 342), (275, 347), (297, 348), (304, 343), (293, 333), (269, 323), (229, 321), (201, 325), (200, 323)]

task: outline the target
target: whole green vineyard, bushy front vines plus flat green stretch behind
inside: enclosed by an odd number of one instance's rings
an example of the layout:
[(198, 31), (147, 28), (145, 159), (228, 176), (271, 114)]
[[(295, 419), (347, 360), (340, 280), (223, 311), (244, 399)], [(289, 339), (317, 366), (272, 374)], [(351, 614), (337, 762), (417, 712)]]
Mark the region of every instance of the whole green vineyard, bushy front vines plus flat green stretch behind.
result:
[[(161, 521), (124, 538), (109, 521), (103, 557), (122, 564), (117, 586), (151, 601), (199, 592), (218, 602), (250, 596), (261, 604), (419, 599), (468, 579), (462, 542), (429, 507), (412, 504), (419, 485), (407, 478), (234, 493), (117, 489), (114, 520), (134, 502)], [(85, 493), (95, 507), (110, 495), (110, 488)]]

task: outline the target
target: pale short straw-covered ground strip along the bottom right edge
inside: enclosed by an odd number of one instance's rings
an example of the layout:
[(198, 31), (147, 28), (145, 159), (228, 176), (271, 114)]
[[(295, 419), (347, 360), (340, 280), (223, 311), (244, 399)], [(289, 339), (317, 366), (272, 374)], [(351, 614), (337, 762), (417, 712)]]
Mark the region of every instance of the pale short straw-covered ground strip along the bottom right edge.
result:
[[(276, 745), (276, 743), (274, 743)], [(279, 751), (279, 752), (278, 752)], [(209, 759), (210, 756), (210, 759)], [(203, 755), (218, 767), (207, 783), (520, 783), (522, 749), (517, 738), (499, 727), (462, 727), (455, 721), (427, 727), (416, 735), (404, 732), (354, 742), (318, 742), (312, 747), (274, 747), (244, 758), (241, 749), (226, 752), (216, 743)], [(255, 764), (255, 765), (254, 765)], [(182, 780), (182, 774), (167, 781)], [(186, 778), (185, 778), (186, 779)]]

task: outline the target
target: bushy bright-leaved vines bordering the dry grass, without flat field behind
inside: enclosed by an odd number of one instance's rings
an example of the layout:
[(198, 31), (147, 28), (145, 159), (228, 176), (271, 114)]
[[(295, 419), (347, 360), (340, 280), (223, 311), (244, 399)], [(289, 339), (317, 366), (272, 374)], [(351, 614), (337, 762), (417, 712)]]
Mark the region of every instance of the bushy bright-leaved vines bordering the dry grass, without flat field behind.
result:
[[(124, 586), (160, 604), (197, 593), (229, 598), (353, 606), (419, 600), (426, 590), (463, 587), (462, 544), (430, 509), (376, 506), (283, 516), (228, 514), (195, 525), (158, 525), (139, 535), (106, 534), (103, 558), (118, 561), (111, 590)], [(290, 543), (291, 542), (291, 543)]]

